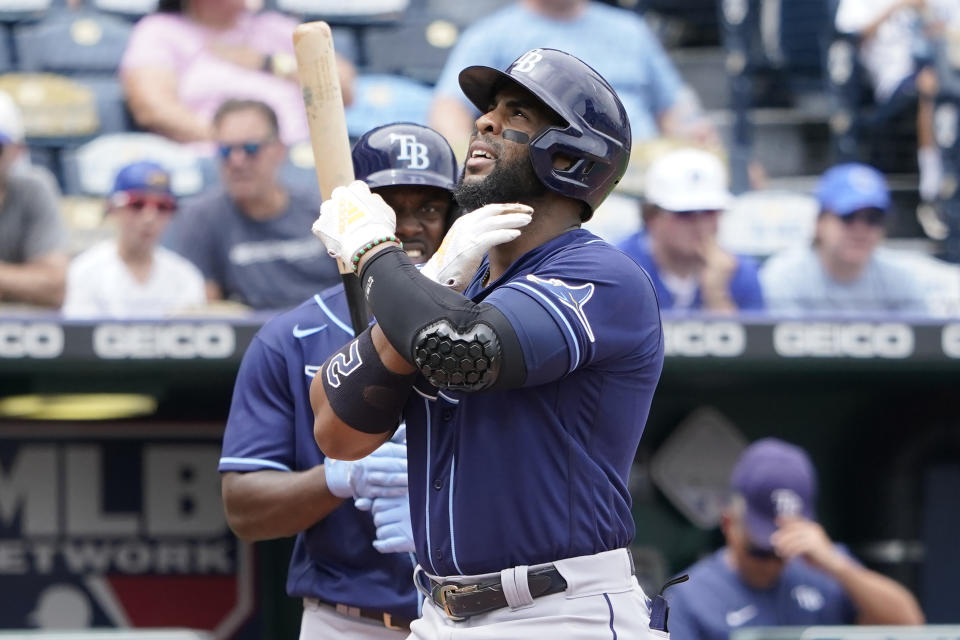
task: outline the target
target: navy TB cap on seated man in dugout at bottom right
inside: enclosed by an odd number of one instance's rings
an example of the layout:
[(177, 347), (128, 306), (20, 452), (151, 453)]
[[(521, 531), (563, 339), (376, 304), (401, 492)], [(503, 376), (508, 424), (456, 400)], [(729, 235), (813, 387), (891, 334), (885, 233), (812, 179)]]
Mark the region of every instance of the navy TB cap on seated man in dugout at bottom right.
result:
[(745, 502), (747, 534), (762, 549), (771, 548), (778, 517), (814, 519), (816, 485), (807, 453), (777, 438), (763, 438), (744, 449), (730, 476), (730, 487)]

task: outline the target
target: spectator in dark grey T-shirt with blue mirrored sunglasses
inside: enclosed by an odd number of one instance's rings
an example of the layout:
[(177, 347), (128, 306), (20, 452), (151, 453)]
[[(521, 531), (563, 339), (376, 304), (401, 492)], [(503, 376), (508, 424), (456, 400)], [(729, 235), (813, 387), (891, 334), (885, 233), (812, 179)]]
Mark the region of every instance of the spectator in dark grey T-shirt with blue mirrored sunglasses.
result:
[(273, 110), (228, 100), (213, 123), (223, 187), (184, 202), (167, 237), (200, 268), (208, 299), (281, 309), (337, 284), (336, 262), (310, 233), (320, 199), (278, 180), (286, 147)]

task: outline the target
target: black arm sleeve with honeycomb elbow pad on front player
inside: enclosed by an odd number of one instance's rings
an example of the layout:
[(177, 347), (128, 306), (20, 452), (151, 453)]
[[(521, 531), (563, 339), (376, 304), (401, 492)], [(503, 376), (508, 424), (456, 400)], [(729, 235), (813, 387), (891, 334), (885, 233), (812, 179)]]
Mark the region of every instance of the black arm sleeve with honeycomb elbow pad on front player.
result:
[(520, 341), (493, 305), (425, 278), (396, 247), (370, 258), (360, 282), (390, 344), (433, 384), (464, 391), (523, 384)]

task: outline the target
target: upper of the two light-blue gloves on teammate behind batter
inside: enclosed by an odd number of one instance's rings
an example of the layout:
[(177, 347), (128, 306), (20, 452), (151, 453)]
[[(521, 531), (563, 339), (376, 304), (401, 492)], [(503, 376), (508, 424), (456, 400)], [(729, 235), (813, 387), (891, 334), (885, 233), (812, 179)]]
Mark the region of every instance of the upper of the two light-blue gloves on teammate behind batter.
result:
[(338, 498), (384, 498), (407, 495), (407, 445), (386, 442), (359, 460), (323, 461), (327, 488)]

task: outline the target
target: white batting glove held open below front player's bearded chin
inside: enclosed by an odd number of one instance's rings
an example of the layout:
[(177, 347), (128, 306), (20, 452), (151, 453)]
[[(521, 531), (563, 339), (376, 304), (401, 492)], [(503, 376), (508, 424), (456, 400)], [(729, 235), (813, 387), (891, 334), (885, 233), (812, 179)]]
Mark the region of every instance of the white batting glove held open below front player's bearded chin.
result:
[(491, 247), (520, 235), (533, 220), (525, 204), (488, 204), (457, 218), (440, 248), (420, 273), (434, 282), (463, 291)]

